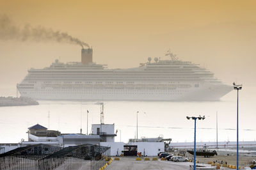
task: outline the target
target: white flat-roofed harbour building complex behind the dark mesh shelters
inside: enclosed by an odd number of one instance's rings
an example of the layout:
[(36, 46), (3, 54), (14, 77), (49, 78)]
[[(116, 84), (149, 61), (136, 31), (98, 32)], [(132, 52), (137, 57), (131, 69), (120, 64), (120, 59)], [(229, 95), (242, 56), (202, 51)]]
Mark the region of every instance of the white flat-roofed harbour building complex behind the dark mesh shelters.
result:
[(47, 130), (42, 125), (28, 128), (28, 141), (22, 140), (19, 144), (0, 144), (0, 151), (4, 153), (22, 146), (34, 144), (50, 144), (53, 146), (76, 146), (79, 144), (97, 144), (110, 147), (110, 155), (134, 155), (138, 152), (143, 156), (156, 156), (164, 151), (163, 138), (130, 139), (129, 143), (115, 143), (115, 124), (93, 124), (92, 134), (61, 134), (58, 131)]

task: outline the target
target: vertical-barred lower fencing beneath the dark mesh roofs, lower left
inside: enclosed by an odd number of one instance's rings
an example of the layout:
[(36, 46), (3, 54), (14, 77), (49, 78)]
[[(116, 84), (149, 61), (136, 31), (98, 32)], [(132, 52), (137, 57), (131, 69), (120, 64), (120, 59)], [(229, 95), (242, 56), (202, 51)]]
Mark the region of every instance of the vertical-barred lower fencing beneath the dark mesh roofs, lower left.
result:
[(82, 158), (62, 157), (40, 160), (31, 160), (23, 157), (1, 157), (0, 169), (28, 169), (28, 170), (98, 170), (108, 161), (102, 157), (100, 160), (84, 160)]

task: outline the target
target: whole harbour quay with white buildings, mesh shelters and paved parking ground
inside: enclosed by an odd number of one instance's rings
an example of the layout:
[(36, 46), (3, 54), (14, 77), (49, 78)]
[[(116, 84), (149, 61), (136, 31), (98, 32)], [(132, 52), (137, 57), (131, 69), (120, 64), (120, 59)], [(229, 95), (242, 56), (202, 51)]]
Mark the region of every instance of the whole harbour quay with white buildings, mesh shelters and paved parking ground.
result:
[[(193, 166), (192, 143), (173, 143), (163, 137), (129, 139), (115, 142), (115, 124), (92, 124), (91, 134), (61, 134), (36, 124), (28, 128), (28, 141), (0, 144), (1, 169), (189, 169)], [(216, 151), (212, 157), (196, 157), (197, 166), (208, 169), (236, 164), (235, 142), (196, 143), (198, 150)], [(227, 145), (226, 145), (227, 144)], [(241, 169), (253, 164), (255, 141), (241, 141)], [(168, 161), (161, 153), (185, 158), (184, 162)], [(160, 155), (159, 155), (160, 154)], [(147, 161), (149, 160), (149, 161)], [(109, 163), (111, 162), (111, 164)], [(214, 166), (212, 166), (212, 163)], [(29, 166), (28, 166), (29, 165)]]

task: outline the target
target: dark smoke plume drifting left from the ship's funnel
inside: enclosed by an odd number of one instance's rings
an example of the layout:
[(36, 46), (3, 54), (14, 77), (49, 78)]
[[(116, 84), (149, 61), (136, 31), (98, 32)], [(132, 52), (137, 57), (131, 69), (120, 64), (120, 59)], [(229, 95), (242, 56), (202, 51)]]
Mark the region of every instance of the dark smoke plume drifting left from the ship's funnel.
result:
[(89, 48), (89, 45), (78, 38), (74, 38), (68, 33), (54, 31), (51, 28), (42, 26), (32, 27), (26, 24), (23, 27), (16, 26), (12, 20), (6, 16), (0, 16), (0, 40), (19, 40), (35, 42), (63, 42), (81, 45)]

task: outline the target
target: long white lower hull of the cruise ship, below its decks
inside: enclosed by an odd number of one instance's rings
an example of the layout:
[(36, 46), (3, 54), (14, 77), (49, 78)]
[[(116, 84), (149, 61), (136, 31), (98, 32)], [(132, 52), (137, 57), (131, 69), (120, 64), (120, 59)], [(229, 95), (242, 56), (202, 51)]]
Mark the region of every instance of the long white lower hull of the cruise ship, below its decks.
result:
[(231, 86), (212, 86), (188, 89), (31, 89), (19, 88), (22, 97), (36, 100), (137, 100), (137, 101), (216, 101), (232, 90)]

